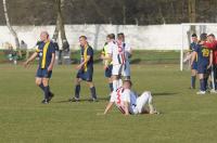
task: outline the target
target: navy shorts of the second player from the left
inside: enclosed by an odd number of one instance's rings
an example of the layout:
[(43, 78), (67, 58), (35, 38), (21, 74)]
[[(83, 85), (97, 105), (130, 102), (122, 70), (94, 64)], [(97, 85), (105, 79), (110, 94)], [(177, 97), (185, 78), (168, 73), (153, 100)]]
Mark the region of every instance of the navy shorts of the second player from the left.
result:
[(92, 74), (93, 74), (93, 68), (88, 68), (87, 72), (78, 70), (76, 77), (85, 81), (92, 81)]

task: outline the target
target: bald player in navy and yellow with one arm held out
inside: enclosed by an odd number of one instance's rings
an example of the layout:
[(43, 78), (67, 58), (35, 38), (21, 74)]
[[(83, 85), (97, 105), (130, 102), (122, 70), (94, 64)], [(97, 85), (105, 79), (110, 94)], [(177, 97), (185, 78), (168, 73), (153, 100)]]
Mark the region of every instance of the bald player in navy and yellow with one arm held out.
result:
[(26, 67), (37, 56), (39, 57), (36, 84), (39, 86), (44, 93), (44, 100), (41, 103), (48, 104), (53, 98), (53, 93), (50, 91), (49, 80), (51, 78), (55, 61), (55, 48), (49, 40), (48, 31), (42, 31), (40, 34), (40, 40), (41, 41), (37, 43), (36, 52), (24, 63), (24, 65)]

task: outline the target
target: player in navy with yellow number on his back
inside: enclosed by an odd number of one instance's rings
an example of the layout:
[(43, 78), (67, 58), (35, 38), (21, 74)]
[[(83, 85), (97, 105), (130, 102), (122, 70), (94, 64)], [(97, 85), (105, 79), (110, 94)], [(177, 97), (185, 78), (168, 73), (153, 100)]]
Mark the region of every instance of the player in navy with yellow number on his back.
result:
[(213, 63), (213, 52), (208, 49), (205, 43), (207, 40), (207, 34), (201, 34), (200, 41), (195, 46), (193, 51), (191, 66), (197, 55), (197, 74), (200, 79), (200, 91), (196, 94), (205, 94), (207, 88), (207, 69), (212, 66)]

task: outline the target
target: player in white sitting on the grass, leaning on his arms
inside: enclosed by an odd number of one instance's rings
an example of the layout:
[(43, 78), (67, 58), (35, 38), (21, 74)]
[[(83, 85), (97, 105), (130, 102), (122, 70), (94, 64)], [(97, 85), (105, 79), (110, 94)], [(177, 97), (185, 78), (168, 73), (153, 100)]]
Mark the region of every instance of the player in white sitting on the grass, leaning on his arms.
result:
[[(157, 114), (153, 106), (151, 92), (145, 91), (140, 96), (137, 96), (131, 91), (131, 81), (125, 80), (123, 87), (113, 91), (111, 95), (110, 103), (107, 104), (104, 115), (112, 108), (115, 104), (118, 109), (125, 115), (136, 115), (136, 114)], [(148, 104), (149, 109), (145, 108)]]

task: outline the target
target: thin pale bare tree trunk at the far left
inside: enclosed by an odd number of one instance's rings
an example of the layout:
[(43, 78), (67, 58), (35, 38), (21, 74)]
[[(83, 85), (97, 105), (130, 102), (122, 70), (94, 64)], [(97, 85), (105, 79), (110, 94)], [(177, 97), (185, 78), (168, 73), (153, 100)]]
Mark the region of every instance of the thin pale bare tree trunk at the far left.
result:
[(10, 32), (13, 35), (13, 37), (15, 39), (15, 47), (16, 47), (16, 49), (20, 50), (20, 41), (18, 41), (17, 34), (13, 29), (13, 27), (11, 26), (11, 23), (9, 21), (9, 13), (8, 13), (8, 8), (7, 8), (7, 0), (2, 0), (2, 2), (3, 2), (3, 12), (4, 12), (5, 21), (7, 21), (7, 26), (8, 26), (9, 30), (10, 30)]

